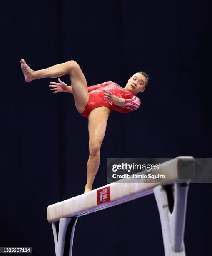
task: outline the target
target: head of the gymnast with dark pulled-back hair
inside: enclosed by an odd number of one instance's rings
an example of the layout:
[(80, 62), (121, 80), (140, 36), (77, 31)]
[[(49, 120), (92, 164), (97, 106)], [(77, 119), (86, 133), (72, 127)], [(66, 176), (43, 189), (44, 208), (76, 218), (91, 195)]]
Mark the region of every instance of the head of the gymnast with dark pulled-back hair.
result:
[(144, 92), (145, 86), (147, 84), (147, 79), (144, 75), (140, 73), (135, 73), (125, 86), (125, 90), (136, 94), (138, 92)]

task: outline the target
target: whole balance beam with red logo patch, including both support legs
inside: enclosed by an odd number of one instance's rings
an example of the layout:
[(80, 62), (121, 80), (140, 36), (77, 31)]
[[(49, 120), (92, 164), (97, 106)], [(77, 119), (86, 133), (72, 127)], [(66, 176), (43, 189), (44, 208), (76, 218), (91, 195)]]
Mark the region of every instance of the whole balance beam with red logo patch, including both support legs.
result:
[(152, 193), (159, 209), (165, 256), (185, 256), (187, 192), (195, 175), (195, 161), (192, 157), (178, 157), (160, 164), (160, 172), (152, 171), (151, 174), (165, 175), (165, 179), (157, 179), (155, 183), (147, 183), (147, 179), (145, 183), (111, 183), (49, 205), (47, 219), (52, 223), (56, 256), (72, 256), (78, 217)]

